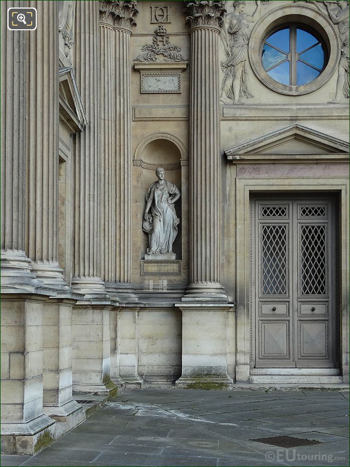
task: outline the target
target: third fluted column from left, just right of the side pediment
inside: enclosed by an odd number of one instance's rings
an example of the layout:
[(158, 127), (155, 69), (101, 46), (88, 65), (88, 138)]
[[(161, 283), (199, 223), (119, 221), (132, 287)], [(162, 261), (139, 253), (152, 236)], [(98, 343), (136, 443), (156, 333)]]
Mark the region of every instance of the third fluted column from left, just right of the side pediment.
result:
[(99, 5), (77, 2), (74, 69), (88, 124), (77, 134), (73, 289), (85, 298), (106, 295), (100, 266)]

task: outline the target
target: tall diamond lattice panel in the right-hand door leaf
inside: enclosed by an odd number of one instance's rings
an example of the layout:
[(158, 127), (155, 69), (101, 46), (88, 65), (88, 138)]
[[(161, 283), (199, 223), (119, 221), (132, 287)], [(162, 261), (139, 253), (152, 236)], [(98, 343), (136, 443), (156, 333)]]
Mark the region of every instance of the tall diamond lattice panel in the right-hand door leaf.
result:
[(301, 226), (301, 293), (326, 294), (326, 229), (324, 225)]

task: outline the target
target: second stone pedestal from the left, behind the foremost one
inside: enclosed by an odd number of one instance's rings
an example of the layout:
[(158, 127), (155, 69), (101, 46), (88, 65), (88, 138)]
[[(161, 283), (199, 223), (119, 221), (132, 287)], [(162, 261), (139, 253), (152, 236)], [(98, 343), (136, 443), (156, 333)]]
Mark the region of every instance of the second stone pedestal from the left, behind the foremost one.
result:
[(56, 421), (56, 437), (84, 420), (72, 397), (72, 308), (79, 296), (50, 299), (43, 314), (43, 405)]

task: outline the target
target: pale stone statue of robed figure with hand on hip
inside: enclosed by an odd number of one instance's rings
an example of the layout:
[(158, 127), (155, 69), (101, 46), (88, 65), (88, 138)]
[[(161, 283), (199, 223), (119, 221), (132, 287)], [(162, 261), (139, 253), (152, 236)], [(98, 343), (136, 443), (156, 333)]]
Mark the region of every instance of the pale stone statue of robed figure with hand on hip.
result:
[(163, 167), (157, 168), (156, 175), (158, 180), (146, 194), (143, 230), (149, 234), (149, 247), (145, 259), (176, 259), (172, 248), (180, 219), (176, 216), (174, 203), (179, 199), (180, 191), (174, 183), (165, 180)]

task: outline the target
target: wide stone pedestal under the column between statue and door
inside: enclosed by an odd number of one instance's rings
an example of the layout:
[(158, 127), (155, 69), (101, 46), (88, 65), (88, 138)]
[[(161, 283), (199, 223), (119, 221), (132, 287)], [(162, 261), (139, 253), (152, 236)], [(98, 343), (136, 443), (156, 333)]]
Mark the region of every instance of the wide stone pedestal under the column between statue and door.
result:
[(175, 387), (230, 389), (227, 311), (230, 305), (176, 304), (182, 311), (182, 374)]

